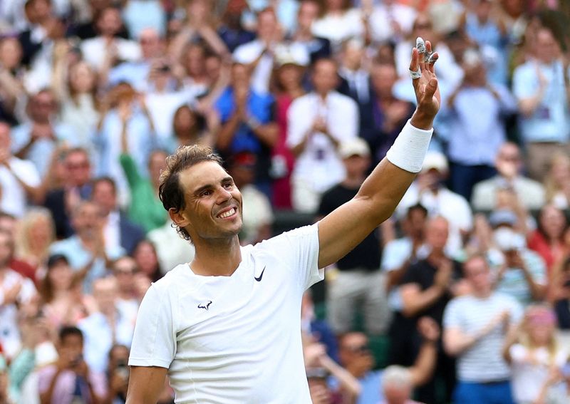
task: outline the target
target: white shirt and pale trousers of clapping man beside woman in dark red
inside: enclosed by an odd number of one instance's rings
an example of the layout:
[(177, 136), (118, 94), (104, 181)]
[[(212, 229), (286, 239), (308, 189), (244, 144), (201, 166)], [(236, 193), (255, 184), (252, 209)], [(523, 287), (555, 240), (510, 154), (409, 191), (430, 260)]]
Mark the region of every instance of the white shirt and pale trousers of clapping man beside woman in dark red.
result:
[[(316, 93), (309, 93), (291, 103), (287, 113), (289, 122), (287, 146), (293, 148), (299, 145), (318, 117), (326, 120), (329, 133), (339, 143), (356, 138), (358, 134), (358, 106), (354, 100), (332, 91), (328, 93), (323, 102)], [(323, 133), (313, 133), (304, 151), (297, 157), (292, 177), (294, 182), (303, 182), (302, 186), (306, 187), (308, 192), (312, 191), (316, 194), (312, 196), (313, 199), (316, 196), (316, 199), (310, 200), (311, 195), (297, 198), (295, 187), (299, 186), (298, 183), (294, 185), (293, 190), (294, 200), (297, 200), (294, 202), (295, 209), (314, 212), (318, 205), (319, 195), (341, 182), (344, 176), (343, 162), (338, 157), (331, 140)]]

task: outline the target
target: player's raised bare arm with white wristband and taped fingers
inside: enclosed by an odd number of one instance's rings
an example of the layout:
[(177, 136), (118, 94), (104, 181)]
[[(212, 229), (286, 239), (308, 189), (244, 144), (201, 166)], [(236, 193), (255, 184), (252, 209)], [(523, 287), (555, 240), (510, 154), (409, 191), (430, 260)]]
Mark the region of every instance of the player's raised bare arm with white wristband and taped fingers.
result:
[[(430, 54), (429, 41), (425, 43), (425, 50)], [(437, 60), (437, 53), (433, 53), (430, 60)], [(421, 74), (416, 73), (418, 71)], [(440, 93), (433, 63), (426, 63), (424, 54), (418, 53), (417, 48), (413, 48), (410, 72), (414, 72), (415, 77), (421, 76), (413, 79), (418, 108), (388, 157), (375, 167), (356, 197), (319, 222), (319, 268), (344, 257), (388, 219), (421, 169), (432, 123), (440, 108)]]

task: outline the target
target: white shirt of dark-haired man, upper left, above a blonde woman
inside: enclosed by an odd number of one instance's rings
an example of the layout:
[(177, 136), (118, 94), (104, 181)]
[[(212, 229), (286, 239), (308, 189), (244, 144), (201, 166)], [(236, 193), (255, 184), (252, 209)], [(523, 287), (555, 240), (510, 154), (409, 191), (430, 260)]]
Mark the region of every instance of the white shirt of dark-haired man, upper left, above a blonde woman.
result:
[[(96, 71), (103, 68), (105, 61), (105, 53), (107, 53), (107, 40), (103, 36), (86, 39), (81, 43), (81, 53), (83, 58), (90, 66), (93, 66)], [(140, 45), (135, 41), (129, 41), (123, 38), (114, 38), (113, 44), (117, 49), (117, 58), (120, 61), (138, 61), (142, 54), (140, 52)]]

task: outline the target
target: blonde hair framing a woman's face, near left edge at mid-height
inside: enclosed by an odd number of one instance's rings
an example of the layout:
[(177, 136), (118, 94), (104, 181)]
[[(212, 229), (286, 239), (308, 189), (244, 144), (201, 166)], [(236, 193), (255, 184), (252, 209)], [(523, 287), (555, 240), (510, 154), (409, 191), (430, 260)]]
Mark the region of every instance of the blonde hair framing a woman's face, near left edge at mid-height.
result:
[[(48, 227), (46, 239), (43, 239), (43, 245), (31, 245), (31, 230), (43, 221)], [(43, 262), (48, 258), (49, 246), (56, 239), (56, 225), (48, 209), (44, 207), (33, 207), (19, 221), (16, 232), (16, 256), (26, 261), (33, 260)]]

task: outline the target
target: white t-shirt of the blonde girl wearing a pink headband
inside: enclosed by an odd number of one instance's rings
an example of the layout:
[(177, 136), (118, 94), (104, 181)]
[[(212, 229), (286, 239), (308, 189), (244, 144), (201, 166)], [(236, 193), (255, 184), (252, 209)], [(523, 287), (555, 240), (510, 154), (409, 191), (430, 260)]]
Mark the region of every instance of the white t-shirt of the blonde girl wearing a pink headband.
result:
[(531, 355), (529, 348), (520, 343), (514, 344), (509, 353), (512, 358), (512, 394), (517, 403), (537, 400), (549, 377), (551, 366), (561, 368), (568, 357), (565, 350), (558, 350), (551, 358), (544, 347), (537, 348)]

